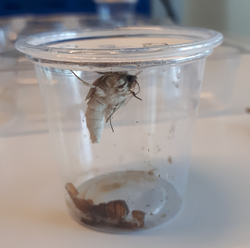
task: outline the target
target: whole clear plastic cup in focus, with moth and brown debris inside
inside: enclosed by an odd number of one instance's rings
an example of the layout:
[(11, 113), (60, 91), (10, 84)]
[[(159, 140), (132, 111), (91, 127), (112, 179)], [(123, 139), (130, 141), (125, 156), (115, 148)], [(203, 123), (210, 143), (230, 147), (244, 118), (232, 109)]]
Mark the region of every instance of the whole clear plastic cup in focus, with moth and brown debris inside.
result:
[(181, 209), (211, 30), (52, 32), (17, 42), (35, 63), (70, 215), (106, 232)]

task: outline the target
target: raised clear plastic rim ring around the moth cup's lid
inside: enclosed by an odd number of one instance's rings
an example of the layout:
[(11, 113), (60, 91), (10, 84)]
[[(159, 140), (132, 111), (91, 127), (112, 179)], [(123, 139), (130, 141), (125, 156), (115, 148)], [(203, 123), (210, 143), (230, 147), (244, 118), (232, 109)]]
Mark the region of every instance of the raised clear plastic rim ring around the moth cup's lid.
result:
[[(189, 43), (167, 45), (167, 46), (153, 46), (153, 47), (140, 47), (140, 48), (120, 48), (120, 49), (77, 49), (77, 48), (59, 48), (50, 47), (48, 43), (53, 41), (64, 41), (76, 38), (91, 37), (95, 33), (109, 34), (109, 37), (113, 37), (112, 34), (129, 34), (133, 32), (139, 32), (145, 35), (178, 35), (178, 37), (194, 39)], [(109, 32), (109, 33), (108, 33)], [(190, 35), (188, 36), (188, 34)], [(103, 36), (100, 35), (100, 38)], [(47, 40), (47, 43), (44, 42)], [(25, 53), (28, 56), (41, 58), (72, 61), (76, 57), (78, 59), (84, 59), (94, 61), (101, 59), (105, 56), (109, 61), (116, 60), (118, 56), (124, 56), (124, 61), (133, 59), (136, 57), (145, 57), (145, 59), (155, 57), (172, 57), (172, 56), (187, 56), (188, 54), (195, 54), (199, 51), (206, 51), (213, 49), (222, 43), (222, 34), (207, 29), (200, 28), (180, 28), (180, 27), (128, 27), (128, 28), (116, 28), (111, 30), (100, 29), (85, 29), (85, 30), (71, 30), (63, 32), (47, 32), (37, 35), (28, 36), (17, 41), (16, 48), (20, 52)], [(48, 42), (49, 41), (49, 42)], [(40, 44), (39, 44), (40, 43)]]

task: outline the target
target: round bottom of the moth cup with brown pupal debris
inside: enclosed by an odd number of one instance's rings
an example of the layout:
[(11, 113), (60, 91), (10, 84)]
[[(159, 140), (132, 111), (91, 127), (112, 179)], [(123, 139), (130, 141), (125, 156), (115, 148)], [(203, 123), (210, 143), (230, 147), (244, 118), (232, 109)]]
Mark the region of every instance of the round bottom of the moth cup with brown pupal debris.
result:
[(182, 199), (151, 171), (123, 171), (92, 178), (77, 189), (66, 185), (70, 215), (92, 229), (122, 233), (145, 230), (172, 219)]

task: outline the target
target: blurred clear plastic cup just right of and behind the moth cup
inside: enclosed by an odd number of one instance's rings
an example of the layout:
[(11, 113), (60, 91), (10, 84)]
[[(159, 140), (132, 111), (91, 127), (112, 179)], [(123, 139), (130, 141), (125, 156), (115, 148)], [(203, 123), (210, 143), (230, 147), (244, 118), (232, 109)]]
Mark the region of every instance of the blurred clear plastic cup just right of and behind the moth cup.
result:
[(213, 116), (233, 106), (233, 92), (242, 57), (241, 46), (226, 40), (206, 61), (198, 117)]

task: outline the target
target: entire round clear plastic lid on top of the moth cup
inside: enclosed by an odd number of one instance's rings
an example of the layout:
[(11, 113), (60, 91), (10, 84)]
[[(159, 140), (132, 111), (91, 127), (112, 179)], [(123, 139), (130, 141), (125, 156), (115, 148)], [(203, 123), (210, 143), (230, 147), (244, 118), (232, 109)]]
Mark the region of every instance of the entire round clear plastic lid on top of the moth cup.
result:
[(203, 58), (222, 40), (206, 29), (126, 27), (41, 33), (20, 39), (16, 48), (46, 66), (144, 68)]

